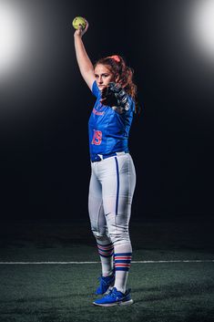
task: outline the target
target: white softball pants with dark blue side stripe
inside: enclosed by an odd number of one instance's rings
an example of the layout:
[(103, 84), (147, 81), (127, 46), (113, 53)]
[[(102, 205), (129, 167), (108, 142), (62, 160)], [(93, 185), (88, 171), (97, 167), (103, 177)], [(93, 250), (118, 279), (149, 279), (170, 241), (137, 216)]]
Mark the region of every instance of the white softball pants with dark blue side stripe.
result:
[(97, 241), (130, 244), (128, 223), (136, 185), (129, 153), (91, 162), (88, 210)]

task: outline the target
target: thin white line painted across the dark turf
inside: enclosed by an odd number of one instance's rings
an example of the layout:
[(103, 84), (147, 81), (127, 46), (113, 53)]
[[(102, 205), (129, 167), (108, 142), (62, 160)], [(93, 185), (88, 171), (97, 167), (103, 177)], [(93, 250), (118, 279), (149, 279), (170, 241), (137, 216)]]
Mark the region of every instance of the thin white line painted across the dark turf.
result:
[[(214, 263), (214, 259), (178, 259), (162, 261), (132, 261), (131, 264), (159, 264), (159, 263)], [(0, 265), (81, 265), (100, 264), (100, 262), (0, 262)]]

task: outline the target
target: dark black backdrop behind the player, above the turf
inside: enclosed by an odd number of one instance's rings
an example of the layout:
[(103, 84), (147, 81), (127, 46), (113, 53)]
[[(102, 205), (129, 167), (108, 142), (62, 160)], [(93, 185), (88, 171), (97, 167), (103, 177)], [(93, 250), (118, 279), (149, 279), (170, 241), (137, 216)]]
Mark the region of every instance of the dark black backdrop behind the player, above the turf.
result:
[(72, 27), (75, 16), (86, 16), (91, 60), (120, 54), (135, 70), (143, 112), (129, 140), (133, 217), (210, 219), (214, 64), (189, 35), (193, 1), (11, 4), (27, 16), (31, 47), (0, 83), (2, 218), (87, 218), (87, 120), (95, 99), (77, 68)]

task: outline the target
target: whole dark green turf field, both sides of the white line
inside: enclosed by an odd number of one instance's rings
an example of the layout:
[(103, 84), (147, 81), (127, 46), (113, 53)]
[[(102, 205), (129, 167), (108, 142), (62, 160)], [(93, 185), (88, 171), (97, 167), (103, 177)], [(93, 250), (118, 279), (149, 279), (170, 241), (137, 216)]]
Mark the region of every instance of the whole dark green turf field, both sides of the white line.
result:
[[(214, 322), (212, 225), (198, 220), (133, 221), (133, 260), (201, 263), (131, 265), (132, 306), (92, 302), (100, 264), (0, 265), (0, 322)], [(0, 262), (98, 261), (85, 223), (0, 226)]]

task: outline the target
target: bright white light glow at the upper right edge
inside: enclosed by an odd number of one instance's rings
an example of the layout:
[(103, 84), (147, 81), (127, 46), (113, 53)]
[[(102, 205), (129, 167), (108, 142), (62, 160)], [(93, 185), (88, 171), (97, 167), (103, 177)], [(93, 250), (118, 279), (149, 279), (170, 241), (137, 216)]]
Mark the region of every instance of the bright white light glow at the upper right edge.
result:
[(191, 29), (198, 47), (214, 62), (214, 0), (194, 3)]

